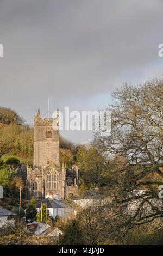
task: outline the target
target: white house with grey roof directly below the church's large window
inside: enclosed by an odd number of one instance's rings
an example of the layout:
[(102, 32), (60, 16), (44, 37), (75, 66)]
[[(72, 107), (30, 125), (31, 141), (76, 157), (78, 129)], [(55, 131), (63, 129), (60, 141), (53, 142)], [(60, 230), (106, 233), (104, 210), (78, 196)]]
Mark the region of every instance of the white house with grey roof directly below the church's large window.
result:
[(41, 210), (41, 203), (47, 206), (47, 214), (54, 219), (58, 215), (62, 220), (68, 220), (74, 215), (71, 206), (63, 203), (62, 200), (59, 200), (59, 196), (54, 199), (52, 194), (48, 194), (45, 199), (36, 204), (38, 212)]

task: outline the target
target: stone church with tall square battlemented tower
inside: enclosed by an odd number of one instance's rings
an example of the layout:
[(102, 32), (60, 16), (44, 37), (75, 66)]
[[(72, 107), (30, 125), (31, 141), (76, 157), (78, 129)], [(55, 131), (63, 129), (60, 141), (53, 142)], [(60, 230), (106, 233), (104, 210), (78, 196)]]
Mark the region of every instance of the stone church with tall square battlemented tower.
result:
[(34, 117), (34, 162), (27, 166), (26, 188), (28, 196), (41, 200), (47, 195), (67, 199), (79, 188), (79, 167), (66, 169), (59, 161), (59, 111), (56, 118)]

